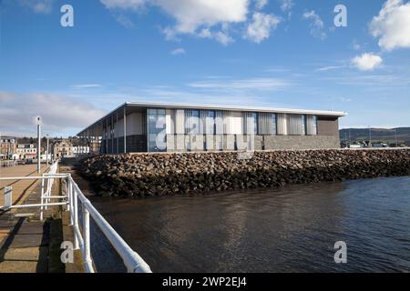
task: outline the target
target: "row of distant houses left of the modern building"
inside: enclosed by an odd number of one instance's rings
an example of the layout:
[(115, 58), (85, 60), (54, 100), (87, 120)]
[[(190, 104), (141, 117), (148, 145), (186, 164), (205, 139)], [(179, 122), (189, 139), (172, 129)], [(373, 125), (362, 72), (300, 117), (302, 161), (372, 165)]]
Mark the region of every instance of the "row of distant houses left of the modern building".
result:
[[(40, 148), (42, 160), (58, 159), (62, 157), (77, 157), (89, 154), (89, 146), (74, 146), (68, 139), (53, 141), (47, 153), (46, 145)], [(13, 136), (0, 137), (0, 160), (26, 161), (37, 158), (36, 144), (19, 144), (18, 138)]]

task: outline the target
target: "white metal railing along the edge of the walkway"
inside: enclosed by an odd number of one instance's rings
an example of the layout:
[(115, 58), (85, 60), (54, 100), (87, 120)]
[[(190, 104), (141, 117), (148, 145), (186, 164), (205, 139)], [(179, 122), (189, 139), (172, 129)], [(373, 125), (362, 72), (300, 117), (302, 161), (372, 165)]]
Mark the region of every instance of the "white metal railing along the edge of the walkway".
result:
[[(128, 273), (151, 273), (149, 265), (139, 256), (126, 241), (118, 235), (116, 230), (110, 226), (107, 220), (99, 214), (97, 209), (92, 206), (91, 202), (82, 193), (70, 174), (57, 174), (58, 164), (50, 166), (49, 170), (43, 176), (25, 176), (25, 177), (0, 177), (4, 180), (41, 180), (41, 202), (40, 204), (31, 205), (12, 205), (12, 187), (5, 186), (5, 206), (0, 207), (3, 210), (23, 207), (40, 207), (40, 218), (43, 219), (43, 212), (49, 206), (65, 206), (64, 210), (69, 211), (70, 226), (74, 229), (74, 249), (79, 249), (84, 262), (84, 268), (87, 273), (94, 273), (95, 267), (91, 256), (91, 237), (90, 237), (90, 217), (94, 220), (98, 228), (107, 237), (108, 242), (117, 251), (118, 255), (127, 267)], [(52, 187), (55, 185), (54, 180), (59, 179), (64, 186), (63, 196), (52, 196)], [(52, 199), (63, 199), (63, 202), (53, 203)], [(82, 210), (82, 223), (79, 224), (78, 212), (79, 206)]]

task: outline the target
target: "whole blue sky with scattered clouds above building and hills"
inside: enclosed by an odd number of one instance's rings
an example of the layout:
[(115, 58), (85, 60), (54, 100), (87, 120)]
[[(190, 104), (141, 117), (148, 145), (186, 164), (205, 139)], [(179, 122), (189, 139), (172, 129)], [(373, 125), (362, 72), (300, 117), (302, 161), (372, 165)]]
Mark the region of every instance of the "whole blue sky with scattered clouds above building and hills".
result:
[[(405, 0), (3, 0), (0, 132), (75, 135), (125, 101), (346, 111), (410, 125)], [(60, 8), (74, 8), (62, 27)], [(335, 27), (335, 5), (347, 27)]]

